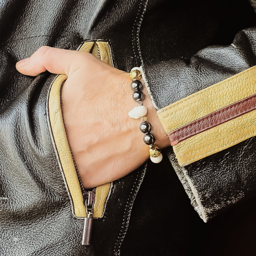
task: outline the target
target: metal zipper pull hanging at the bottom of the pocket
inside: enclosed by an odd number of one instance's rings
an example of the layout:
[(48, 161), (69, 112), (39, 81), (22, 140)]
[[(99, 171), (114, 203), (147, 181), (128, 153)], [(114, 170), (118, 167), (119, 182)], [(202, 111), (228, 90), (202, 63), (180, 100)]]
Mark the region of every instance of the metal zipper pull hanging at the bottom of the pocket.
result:
[(92, 233), (95, 189), (93, 189), (92, 191), (84, 192), (83, 198), (84, 198), (84, 206), (87, 212), (87, 217), (84, 218), (84, 232), (83, 232), (83, 238), (82, 238), (82, 245), (88, 245), (90, 244), (90, 238)]

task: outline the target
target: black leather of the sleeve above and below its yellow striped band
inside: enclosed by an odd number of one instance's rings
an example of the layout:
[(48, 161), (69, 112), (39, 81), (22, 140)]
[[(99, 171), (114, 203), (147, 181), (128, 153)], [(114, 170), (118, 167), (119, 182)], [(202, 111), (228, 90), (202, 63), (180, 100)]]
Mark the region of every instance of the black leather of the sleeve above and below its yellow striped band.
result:
[[(173, 59), (144, 67), (146, 84), (156, 108), (164, 108), (255, 66), (255, 39), (256, 28), (248, 28), (240, 31), (232, 44), (202, 49), (189, 62)], [(210, 109), (211, 106), (209, 104)], [(232, 145), (231, 141), (227, 143)], [(179, 167), (171, 152), (172, 165), (180, 179), (186, 181), (183, 182), (185, 189), (191, 202), (196, 202), (195, 210), (204, 221), (256, 193), (255, 137), (185, 167)]]

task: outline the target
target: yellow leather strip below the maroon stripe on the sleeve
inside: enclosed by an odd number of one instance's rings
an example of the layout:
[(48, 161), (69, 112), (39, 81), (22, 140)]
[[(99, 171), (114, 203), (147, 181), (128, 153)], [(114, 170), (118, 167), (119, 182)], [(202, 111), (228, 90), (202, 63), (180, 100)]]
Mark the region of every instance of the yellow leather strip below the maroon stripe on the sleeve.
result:
[(256, 136), (256, 110), (199, 133), (173, 147), (180, 166)]

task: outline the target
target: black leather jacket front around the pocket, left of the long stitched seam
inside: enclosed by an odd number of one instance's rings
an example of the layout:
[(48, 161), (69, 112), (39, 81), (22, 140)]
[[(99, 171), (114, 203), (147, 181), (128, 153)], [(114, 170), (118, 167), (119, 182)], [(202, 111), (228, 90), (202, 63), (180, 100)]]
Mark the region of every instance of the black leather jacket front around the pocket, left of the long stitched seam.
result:
[(47, 120), (55, 75), (27, 77), (15, 70), (15, 63), (41, 45), (77, 49), (84, 40), (105, 39), (113, 65), (129, 70), (141, 64), (134, 32), (145, 7), (146, 1), (1, 3), (0, 255), (120, 254), (145, 164), (113, 182), (104, 217), (94, 220), (92, 245), (82, 246), (84, 221), (73, 215)]

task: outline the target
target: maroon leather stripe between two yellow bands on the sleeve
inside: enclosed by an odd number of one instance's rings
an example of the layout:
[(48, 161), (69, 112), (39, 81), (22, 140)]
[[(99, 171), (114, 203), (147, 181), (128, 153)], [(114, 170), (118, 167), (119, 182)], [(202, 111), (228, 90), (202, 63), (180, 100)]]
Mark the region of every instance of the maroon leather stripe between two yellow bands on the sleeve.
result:
[(253, 110), (256, 110), (256, 94), (205, 115), (204, 117), (168, 133), (167, 135), (170, 139), (171, 145), (174, 146), (185, 139)]

